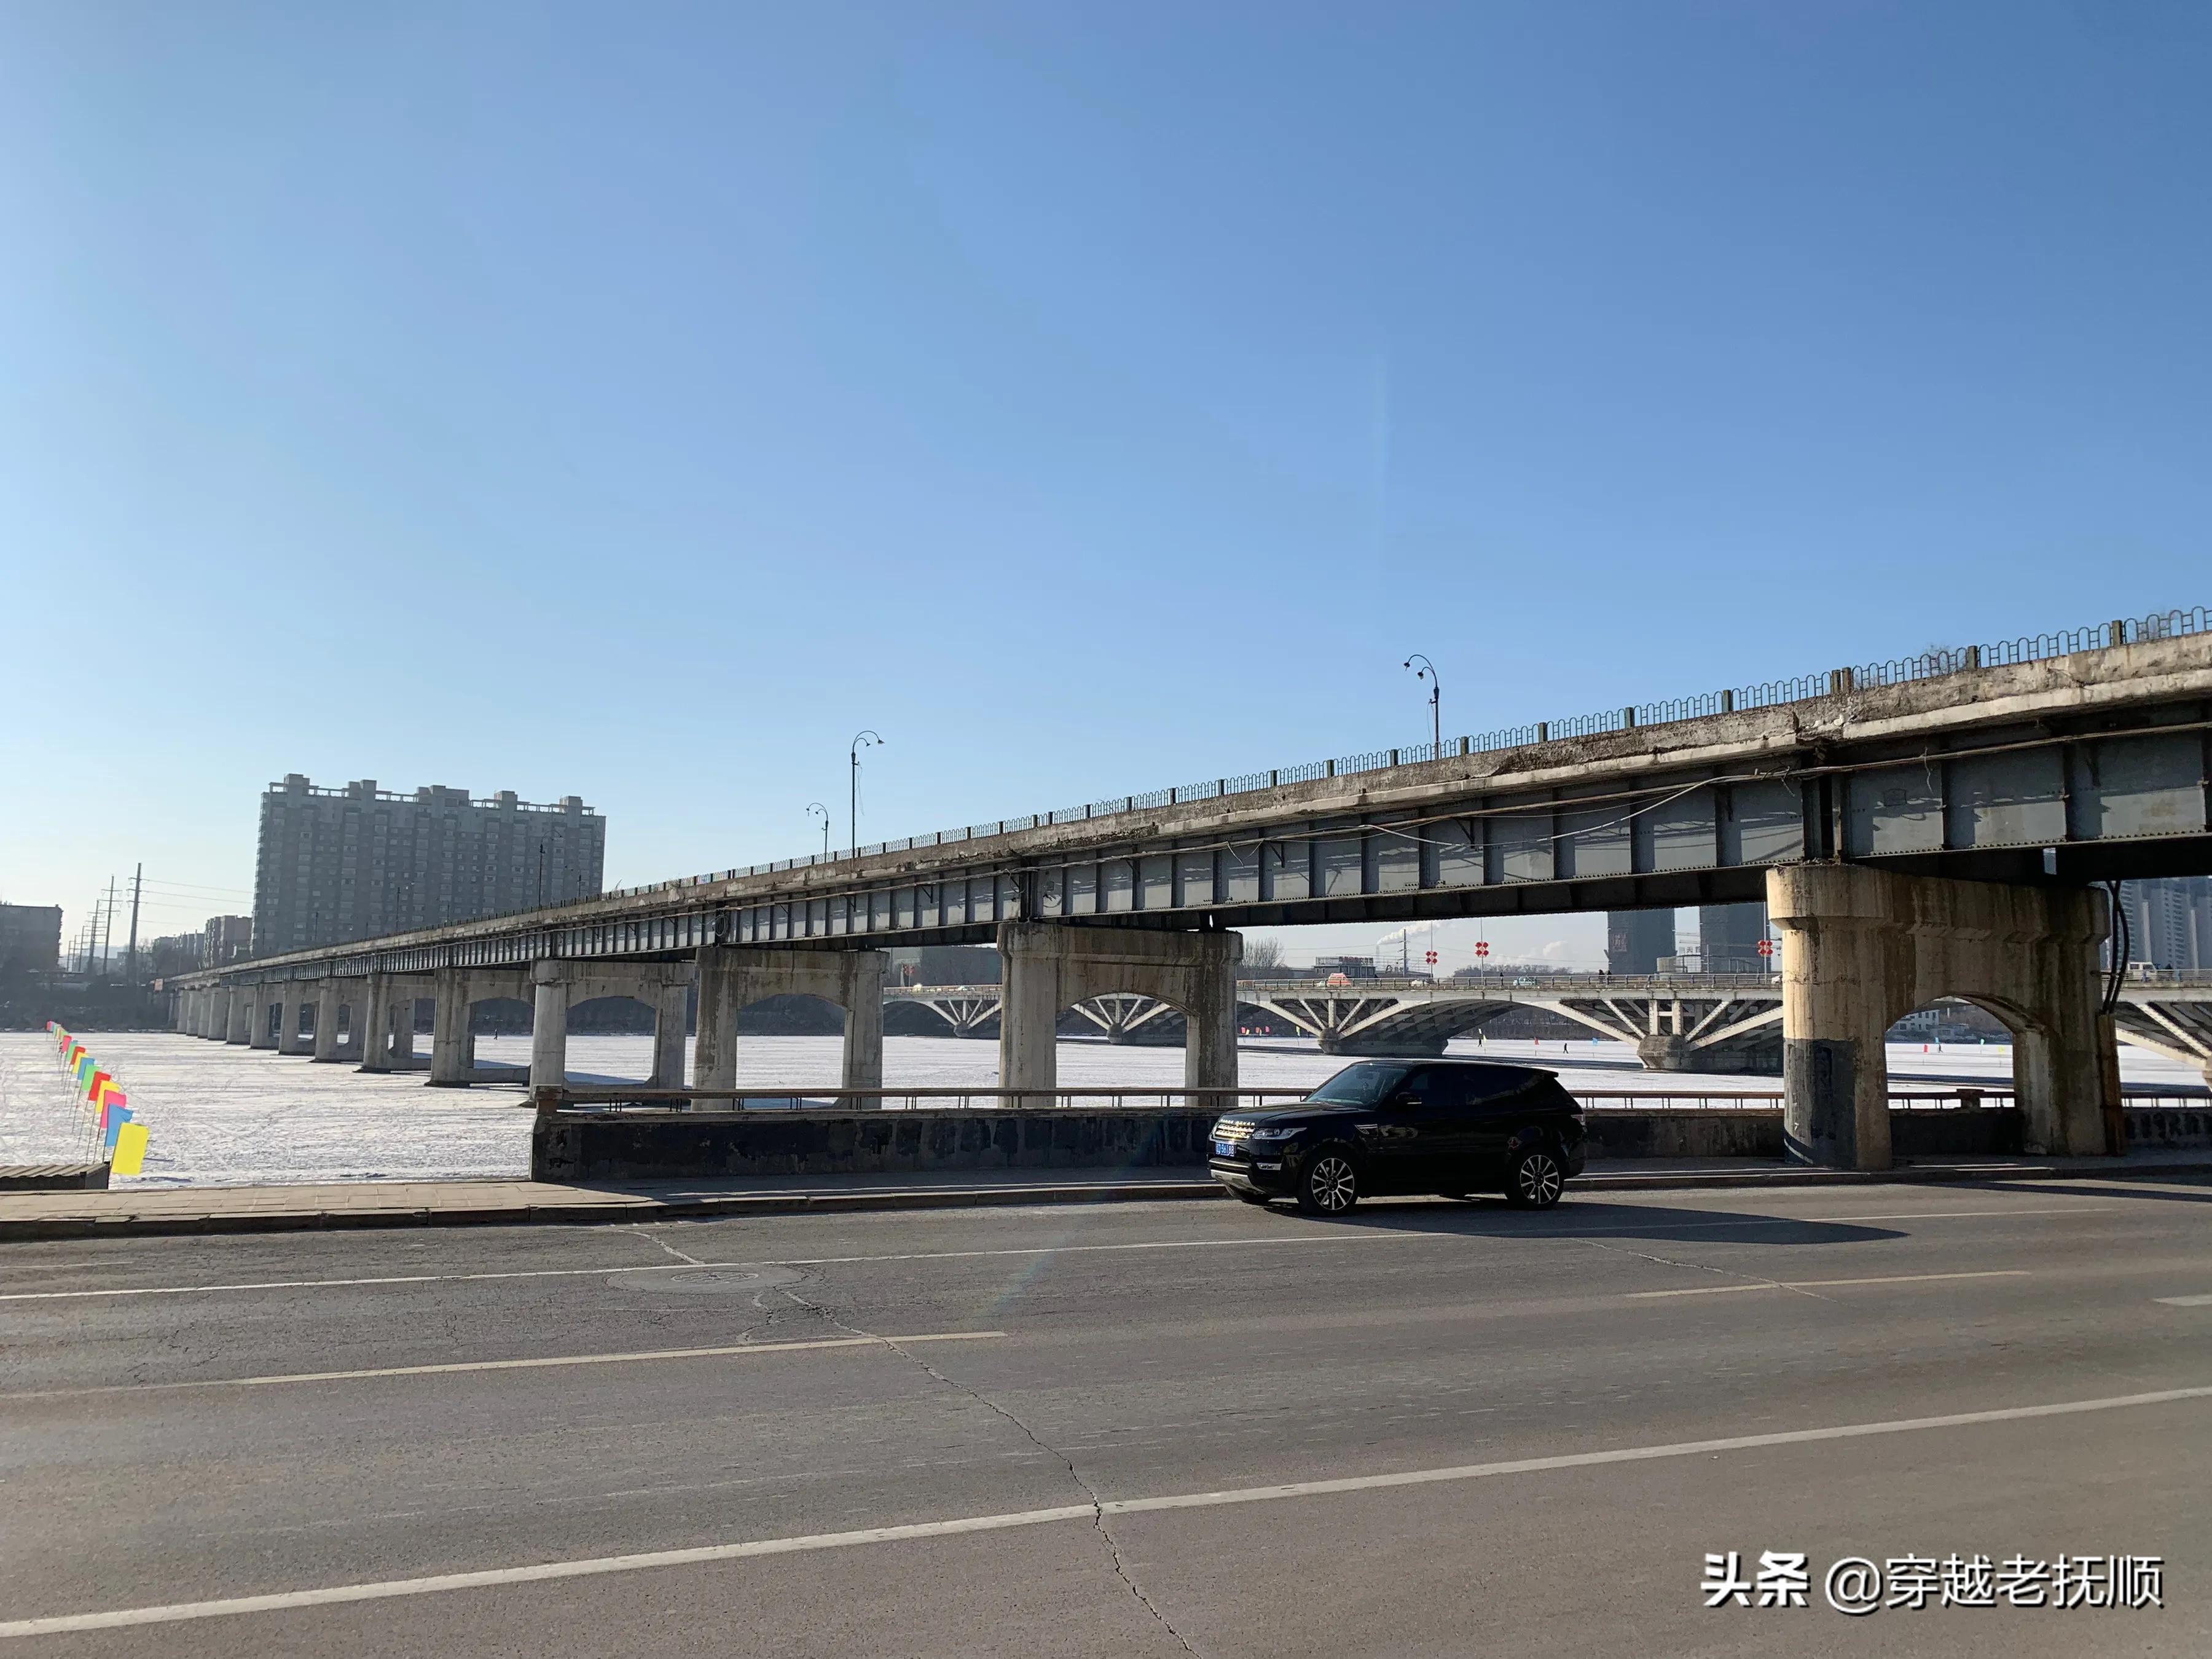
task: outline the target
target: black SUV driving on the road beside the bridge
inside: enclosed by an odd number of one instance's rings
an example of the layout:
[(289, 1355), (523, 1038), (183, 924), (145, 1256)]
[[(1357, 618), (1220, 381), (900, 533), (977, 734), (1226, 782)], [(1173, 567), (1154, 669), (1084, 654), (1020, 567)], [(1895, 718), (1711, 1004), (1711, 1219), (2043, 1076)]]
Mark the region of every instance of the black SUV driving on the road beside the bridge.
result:
[(1504, 1192), (1548, 1210), (1582, 1175), (1582, 1108), (1540, 1066), (1363, 1060), (1298, 1106), (1230, 1113), (1208, 1168), (1245, 1203), (1343, 1214), (1380, 1192)]

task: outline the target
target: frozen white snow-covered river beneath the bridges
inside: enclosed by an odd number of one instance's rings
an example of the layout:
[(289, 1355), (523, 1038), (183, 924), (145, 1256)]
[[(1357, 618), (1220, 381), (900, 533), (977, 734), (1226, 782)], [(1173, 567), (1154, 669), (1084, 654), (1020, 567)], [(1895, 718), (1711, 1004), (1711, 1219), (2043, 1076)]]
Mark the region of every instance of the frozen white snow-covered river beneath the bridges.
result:
[[(427, 1088), (420, 1073), (369, 1075), (349, 1064), (316, 1066), (265, 1048), (232, 1048), (175, 1033), (80, 1033), (131, 1095), (150, 1130), (146, 1172), (117, 1186), (263, 1186), (281, 1181), (425, 1181), (515, 1177), (529, 1172), (531, 1113), (520, 1088)], [(480, 1060), (529, 1064), (529, 1037), (478, 1037)], [(646, 1035), (573, 1035), (568, 1064), (584, 1075), (639, 1079)], [(1648, 1073), (1617, 1042), (1460, 1040), (1455, 1055), (1533, 1060), (1559, 1071), (1575, 1093), (1694, 1095), (1699, 1091), (1778, 1091), (1778, 1077), (1701, 1077)], [(2203, 1077), (2141, 1048), (2121, 1051), (2130, 1084), (2201, 1088)], [(1343, 1060), (1298, 1040), (1241, 1044), (1248, 1088), (1307, 1088)], [(998, 1082), (998, 1044), (960, 1037), (885, 1037), (885, 1082), (975, 1086)], [(2006, 1086), (2008, 1046), (1889, 1046), (1891, 1079), (1911, 1084), (1989, 1082)], [(748, 1088), (834, 1086), (836, 1037), (745, 1037), (739, 1084)], [(1146, 1088), (1183, 1082), (1181, 1048), (1060, 1044), (1062, 1086)], [(42, 1033), (0, 1033), (0, 1164), (91, 1157), (84, 1115)]]

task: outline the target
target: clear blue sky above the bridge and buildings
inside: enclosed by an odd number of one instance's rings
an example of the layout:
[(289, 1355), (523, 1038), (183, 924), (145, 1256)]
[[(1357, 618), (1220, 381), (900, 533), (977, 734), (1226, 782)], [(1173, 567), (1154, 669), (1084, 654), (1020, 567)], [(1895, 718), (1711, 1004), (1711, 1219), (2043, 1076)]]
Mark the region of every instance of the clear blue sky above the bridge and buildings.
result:
[(283, 772), (628, 883), (863, 726), (878, 838), (1418, 741), (1411, 650), (2205, 602), (2208, 86), (2185, 0), (15, 0), (0, 896), (248, 889)]

